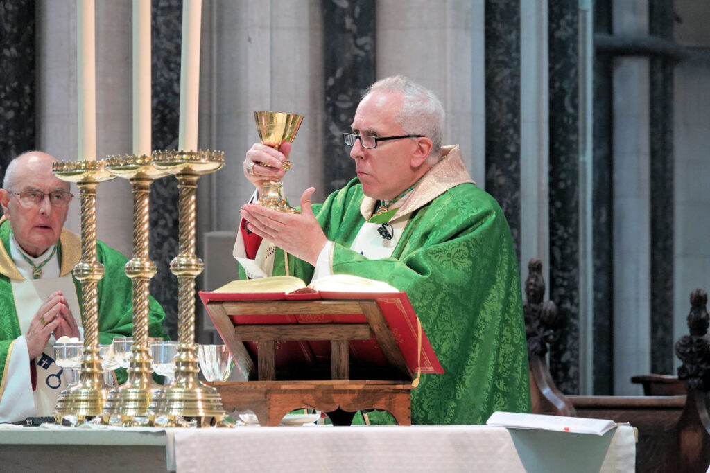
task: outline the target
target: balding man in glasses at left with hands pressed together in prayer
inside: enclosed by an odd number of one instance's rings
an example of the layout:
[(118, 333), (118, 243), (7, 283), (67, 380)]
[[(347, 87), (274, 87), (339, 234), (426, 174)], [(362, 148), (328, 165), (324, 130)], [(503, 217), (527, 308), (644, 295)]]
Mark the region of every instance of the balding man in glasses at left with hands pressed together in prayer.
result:
[[(82, 338), (81, 285), (72, 268), (78, 235), (62, 229), (72, 200), (69, 183), (52, 173), (54, 157), (26, 152), (8, 165), (0, 204), (0, 422), (51, 416), (71, 382), (54, 360), (55, 340)], [(97, 242), (99, 343), (131, 336), (132, 287), (126, 257)], [(165, 313), (151, 298), (149, 332), (165, 337)], [(124, 377), (123, 374), (122, 377)]]

